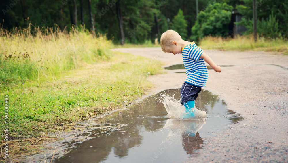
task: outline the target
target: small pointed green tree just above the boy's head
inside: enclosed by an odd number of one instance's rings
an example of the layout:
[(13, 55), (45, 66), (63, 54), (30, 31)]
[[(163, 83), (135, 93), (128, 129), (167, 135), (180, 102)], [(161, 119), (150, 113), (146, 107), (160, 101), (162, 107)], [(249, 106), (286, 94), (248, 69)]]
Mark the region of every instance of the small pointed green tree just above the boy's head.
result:
[(172, 20), (172, 29), (177, 31), (183, 40), (187, 39), (187, 21), (184, 18), (183, 11), (179, 9), (178, 14)]

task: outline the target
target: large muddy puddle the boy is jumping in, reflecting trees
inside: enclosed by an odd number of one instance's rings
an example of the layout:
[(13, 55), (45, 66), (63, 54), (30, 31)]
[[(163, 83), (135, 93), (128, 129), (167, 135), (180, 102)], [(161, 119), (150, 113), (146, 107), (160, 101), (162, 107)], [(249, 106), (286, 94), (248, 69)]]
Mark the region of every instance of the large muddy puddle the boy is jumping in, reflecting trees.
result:
[[(180, 89), (161, 93), (176, 100), (180, 97)], [(98, 129), (85, 133), (95, 138), (75, 144), (54, 162), (185, 162), (201, 152), (205, 138), (243, 120), (209, 91), (202, 90), (196, 100), (196, 108), (207, 113), (207, 118), (198, 120), (169, 119), (159, 99), (160, 94), (156, 94), (129, 110), (98, 119), (89, 126)]]

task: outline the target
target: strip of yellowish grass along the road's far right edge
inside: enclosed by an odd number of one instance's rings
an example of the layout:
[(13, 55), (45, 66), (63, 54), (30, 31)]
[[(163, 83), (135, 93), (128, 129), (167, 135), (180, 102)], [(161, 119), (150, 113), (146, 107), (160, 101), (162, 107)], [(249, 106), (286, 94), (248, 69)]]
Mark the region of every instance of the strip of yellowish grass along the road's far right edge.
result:
[(272, 51), (288, 55), (288, 41), (280, 38), (260, 37), (254, 42), (252, 36), (238, 36), (234, 39), (207, 36), (199, 42), (199, 47), (202, 49)]

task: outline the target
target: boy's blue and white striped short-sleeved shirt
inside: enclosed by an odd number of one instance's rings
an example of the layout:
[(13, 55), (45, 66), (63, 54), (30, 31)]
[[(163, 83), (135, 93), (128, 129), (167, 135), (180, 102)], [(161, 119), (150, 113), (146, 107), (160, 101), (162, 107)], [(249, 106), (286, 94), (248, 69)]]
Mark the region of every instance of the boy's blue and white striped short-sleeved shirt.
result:
[(204, 51), (194, 42), (187, 44), (182, 49), (182, 57), (186, 69), (186, 83), (205, 87), (208, 79), (208, 70), (204, 59), (200, 58)]

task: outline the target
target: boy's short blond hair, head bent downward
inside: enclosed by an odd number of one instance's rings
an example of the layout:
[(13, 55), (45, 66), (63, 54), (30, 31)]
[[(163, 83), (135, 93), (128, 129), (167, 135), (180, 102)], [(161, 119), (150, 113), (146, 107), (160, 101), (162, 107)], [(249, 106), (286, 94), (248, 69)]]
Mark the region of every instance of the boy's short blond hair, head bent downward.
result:
[(162, 51), (166, 52), (166, 47), (172, 46), (173, 41), (179, 41), (181, 36), (174, 30), (167, 30), (161, 35), (160, 43)]

